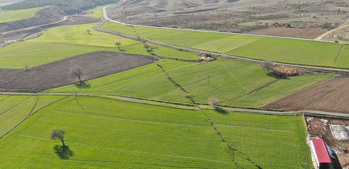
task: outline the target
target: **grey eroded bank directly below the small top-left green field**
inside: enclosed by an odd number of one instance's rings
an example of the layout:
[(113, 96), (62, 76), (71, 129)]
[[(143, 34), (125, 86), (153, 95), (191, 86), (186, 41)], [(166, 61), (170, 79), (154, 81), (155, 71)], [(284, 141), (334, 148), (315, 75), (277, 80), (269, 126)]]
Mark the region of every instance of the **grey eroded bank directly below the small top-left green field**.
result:
[(62, 9), (58, 8), (57, 6), (50, 6), (40, 9), (32, 18), (0, 23), (0, 33), (58, 22), (61, 21), (64, 16), (66, 16), (66, 14)]

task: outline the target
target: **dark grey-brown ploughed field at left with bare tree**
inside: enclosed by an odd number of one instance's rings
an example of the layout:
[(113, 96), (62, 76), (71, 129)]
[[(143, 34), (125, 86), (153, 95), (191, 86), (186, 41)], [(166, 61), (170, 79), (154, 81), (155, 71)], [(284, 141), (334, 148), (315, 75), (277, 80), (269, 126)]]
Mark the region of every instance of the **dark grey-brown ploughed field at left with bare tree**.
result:
[(74, 84), (79, 81), (70, 78), (70, 69), (74, 67), (83, 69), (83, 80), (91, 80), (151, 63), (154, 63), (154, 59), (150, 57), (115, 52), (83, 54), (31, 68), (28, 71), (0, 75), (0, 91), (38, 93)]

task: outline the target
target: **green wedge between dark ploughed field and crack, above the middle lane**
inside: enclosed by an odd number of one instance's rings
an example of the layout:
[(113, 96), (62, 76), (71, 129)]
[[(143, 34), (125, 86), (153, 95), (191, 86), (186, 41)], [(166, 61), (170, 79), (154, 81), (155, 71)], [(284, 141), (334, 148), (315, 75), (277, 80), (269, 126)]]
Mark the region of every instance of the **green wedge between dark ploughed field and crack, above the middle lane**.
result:
[[(180, 69), (198, 64), (175, 60), (161, 60), (158, 63), (169, 65), (169, 69)], [(76, 89), (78, 93), (122, 95), (169, 102), (192, 103), (189, 99), (185, 98), (188, 94), (176, 87), (175, 84), (168, 79), (165, 72), (156, 64), (150, 64), (129, 71), (89, 80), (86, 83), (91, 87), (77, 88), (73, 84), (50, 89), (43, 93), (72, 93), (74, 89)]]

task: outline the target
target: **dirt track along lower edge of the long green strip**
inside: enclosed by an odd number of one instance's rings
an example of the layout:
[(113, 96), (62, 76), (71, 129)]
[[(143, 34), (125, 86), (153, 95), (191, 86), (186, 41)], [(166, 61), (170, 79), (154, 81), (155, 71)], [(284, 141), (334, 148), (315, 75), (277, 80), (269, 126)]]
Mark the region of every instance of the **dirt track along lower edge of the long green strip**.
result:
[[(153, 43), (153, 44), (169, 47), (169, 48), (172, 48), (172, 49), (181, 49), (181, 50), (184, 50), (184, 51), (191, 51), (191, 52), (198, 52), (198, 53), (209, 53), (209, 54), (213, 54), (213, 55), (217, 55), (217, 56), (222, 56), (222, 57), (225, 57), (225, 58), (231, 58), (231, 59), (242, 60), (242, 61), (249, 61), (249, 62), (254, 62), (254, 63), (261, 63), (261, 62), (264, 61), (264, 60), (257, 60), (257, 59), (250, 59), (250, 58), (245, 58), (245, 57), (233, 56), (233, 55), (225, 54), (225, 53), (218, 53), (218, 52), (212, 52), (212, 51), (193, 49), (193, 48), (189, 48), (189, 47), (177, 46), (177, 45), (173, 45), (173, 44), (169, 44), (169, 43), (165, 43), (165, 42), (160, 42), (160, 41), (155, 41), (155, 40), (144, 38), (144, 37), (128, 35), (128, 34), (124, 34), (124, 33), (121, 33), (121, 32), (116, 32), (116, 31), (112, 31), (112, 30), (103, 29), (102, 25), (104, 23), (105, 23), (105, 21), (101, 22), (99, 25), (94, 27), (94, 29), (97, 30), (97, 31), (102, 31), (102, 32), (105, 32), (105, 33), (114, 34), (114, 35), (122, 36), (122, 37), (125, 37), (125, 38), (133, 39), (135, 41), (149, 42), (149, 43)], [(246, 34), (243, 34), (243, 35), (246, 35)], [(345, 69), (345, 68), (309, 66), (309, 65), (279, 63), (279, 62), (275, 62), (275, 63), (277, 65), (282, 65), (282, 66), (287, 66), (287, 67), (297, 67), (297, 68), (303, 68), (303, 69), (315, 69), (315, 70), (322, 71), (322, 72), (339, 72), (339, 73), (343, 73), (344, 72), (344, 73), (349, 73), (349, 69)]]

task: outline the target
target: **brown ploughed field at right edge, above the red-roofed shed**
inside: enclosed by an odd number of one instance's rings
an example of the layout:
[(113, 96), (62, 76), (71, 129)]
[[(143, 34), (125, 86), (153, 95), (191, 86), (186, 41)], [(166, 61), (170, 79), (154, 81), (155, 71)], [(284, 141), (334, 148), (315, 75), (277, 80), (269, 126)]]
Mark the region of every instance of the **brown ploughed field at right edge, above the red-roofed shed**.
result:
[(312, 87), (266, 104), (262, 108), (349, 113), (348, 90), (349, 76), (338, 75)]

